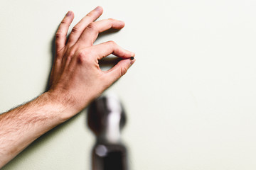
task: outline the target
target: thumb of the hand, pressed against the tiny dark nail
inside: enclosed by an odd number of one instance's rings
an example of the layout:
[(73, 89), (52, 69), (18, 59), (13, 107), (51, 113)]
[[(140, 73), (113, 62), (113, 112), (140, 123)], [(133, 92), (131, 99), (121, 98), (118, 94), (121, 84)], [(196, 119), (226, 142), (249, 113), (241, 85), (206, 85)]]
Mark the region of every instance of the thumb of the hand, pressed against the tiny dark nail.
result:
[(117, 81), (120, 77), (126, 74), (129, 67), (134, 64), (135, 59), (132, 57), (129, 59), (119, 61), (112, 69), (108, 70), (106, 74), (106, 79), (110, 84), (113, 84), (114, 81)]

